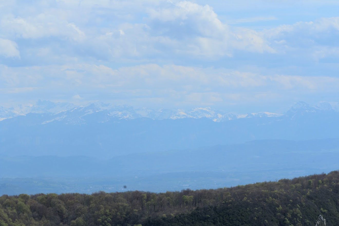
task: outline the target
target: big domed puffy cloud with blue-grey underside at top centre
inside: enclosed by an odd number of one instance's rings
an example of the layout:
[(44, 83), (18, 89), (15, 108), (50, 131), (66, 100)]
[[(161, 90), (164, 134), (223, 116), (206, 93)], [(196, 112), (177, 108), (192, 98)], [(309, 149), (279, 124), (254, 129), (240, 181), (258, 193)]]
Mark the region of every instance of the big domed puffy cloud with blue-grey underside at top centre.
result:
[(193, 56), (232, 56), (233, 50), (270, 52), (274, 50), (251, 29), (232, 28), (222, 23), (209, 5), (189, 1), (152, 9), (149, 26), (156, 35), (183, 40), (180, 53)]

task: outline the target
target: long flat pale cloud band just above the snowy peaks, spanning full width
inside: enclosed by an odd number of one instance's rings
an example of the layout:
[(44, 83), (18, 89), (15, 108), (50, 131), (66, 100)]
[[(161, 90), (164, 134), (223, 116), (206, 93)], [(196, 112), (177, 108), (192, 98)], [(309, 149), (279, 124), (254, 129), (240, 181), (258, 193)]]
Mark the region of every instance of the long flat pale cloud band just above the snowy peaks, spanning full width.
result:
[[(3, 96), (63, 98), (63, 101), (104, 100), (134, 105), (137, 99), (157, 100), (163, 106), (223, 105), (293, 99), (303, 95), (338, 93), (339, 78), (263, 75), (225, 68), (145, 64), (112, 69), (77, 64), (43, 67), (1, 66)], [(38, 98), (37, 98), (38, 99)], [(159, 104), (159, 103), (158, 103)]]

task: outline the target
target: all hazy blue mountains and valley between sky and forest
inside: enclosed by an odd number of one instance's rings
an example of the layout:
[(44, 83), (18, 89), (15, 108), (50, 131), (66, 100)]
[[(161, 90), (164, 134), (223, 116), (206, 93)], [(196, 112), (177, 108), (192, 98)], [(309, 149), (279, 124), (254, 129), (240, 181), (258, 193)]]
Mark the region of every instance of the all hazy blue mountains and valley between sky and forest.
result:
[(216, 188), (329, 172), (339, 158), (328, 103), (280, 115), (50, 101), (0, 110), (0, 193)]

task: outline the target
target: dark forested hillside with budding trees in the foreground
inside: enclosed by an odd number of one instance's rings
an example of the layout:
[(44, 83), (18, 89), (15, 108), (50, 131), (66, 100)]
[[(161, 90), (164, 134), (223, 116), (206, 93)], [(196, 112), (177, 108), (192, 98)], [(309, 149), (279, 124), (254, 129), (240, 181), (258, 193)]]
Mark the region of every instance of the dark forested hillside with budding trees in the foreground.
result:
[(339, 171), (210, 190), (0, 197), (0, 225), (339, 225)]

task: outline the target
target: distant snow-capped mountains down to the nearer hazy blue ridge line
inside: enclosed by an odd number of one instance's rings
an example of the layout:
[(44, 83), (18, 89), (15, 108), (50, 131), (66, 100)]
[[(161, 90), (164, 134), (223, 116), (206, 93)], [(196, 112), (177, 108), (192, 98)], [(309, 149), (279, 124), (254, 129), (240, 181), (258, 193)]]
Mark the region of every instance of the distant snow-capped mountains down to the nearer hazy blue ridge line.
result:
[(326, 103), (298, 102), (284, 115), (236, 115), (210, 107), (152, 110), (93, 103), (67, 109), (70, 105), (46, 104), (46, 110), (40, 103), (25, 108), (35, 112), (18, 116), (1, 108), (2, 115), (13, 117), (0, 121), (0, 155), (43, 155), (48, 150), (53, 155), (105, 157), (251, 140), (339, 137), (339, 112)]

